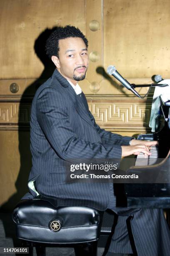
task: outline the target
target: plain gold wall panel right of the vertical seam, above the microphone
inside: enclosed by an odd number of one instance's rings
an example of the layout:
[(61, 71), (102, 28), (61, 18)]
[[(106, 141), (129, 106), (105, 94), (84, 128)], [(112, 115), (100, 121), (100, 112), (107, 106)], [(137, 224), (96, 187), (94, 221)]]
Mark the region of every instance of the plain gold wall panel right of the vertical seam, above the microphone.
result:
[(104, 0), (104, 67), (126, 78), (170, 77), (170, 1)]

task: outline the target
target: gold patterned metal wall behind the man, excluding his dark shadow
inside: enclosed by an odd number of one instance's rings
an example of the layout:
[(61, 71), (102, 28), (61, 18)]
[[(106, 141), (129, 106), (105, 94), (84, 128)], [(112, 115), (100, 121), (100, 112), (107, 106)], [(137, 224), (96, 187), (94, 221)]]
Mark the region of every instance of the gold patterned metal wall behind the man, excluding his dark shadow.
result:
[[(149, 132), (152, 93), (138, 99), (105, 73), (112, 64), (130, 83), (168, 78), (169, 0), (0, 0), (0, 204), (12, 208), (27, 191), (29, 120), (36, 88), (52, 72), (34, 50), (53, 26), (78, 26), (90, 65), (80, 82), (96, 122), (122, 135)], [(42, 40), (42, 39), (41, 39)], [(40, 48), (40, 42), (39, 42)], [(38, 49), (39, 49), (38, 48)], [(40, 50), (40, 49), (39, 49)], [(141, 95), (146, 88), (138, 89)]]

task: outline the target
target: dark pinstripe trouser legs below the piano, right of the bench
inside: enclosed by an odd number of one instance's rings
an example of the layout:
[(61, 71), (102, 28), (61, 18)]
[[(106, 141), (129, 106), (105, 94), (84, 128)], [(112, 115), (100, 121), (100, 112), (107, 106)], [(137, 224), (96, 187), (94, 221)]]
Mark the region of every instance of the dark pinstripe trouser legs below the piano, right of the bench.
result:
[[(109, 252), (134, 253), (138, 256), (170, 256), (170, 230), (162, 209), (116, 207), (112, 183), (107, 208), (118, 215)], [(129, 238), (130, 232), (132, 239)], [(133, 244), (135, 249), (132, 250)]]

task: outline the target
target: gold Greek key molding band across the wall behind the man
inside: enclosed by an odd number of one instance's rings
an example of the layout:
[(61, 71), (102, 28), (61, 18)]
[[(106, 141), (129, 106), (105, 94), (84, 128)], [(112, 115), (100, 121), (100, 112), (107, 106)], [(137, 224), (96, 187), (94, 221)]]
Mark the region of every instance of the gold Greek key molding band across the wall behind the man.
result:
[[(113, 100), (89, 100), (89, 109), (95, 117), (96, 123), (107, 130), (129, 130), (136, 127), (142, 129), (149, 126), (151, 103), (128, 102), (120, 99)], [(24, 125), (29, 128), (30, 103), (0, 102), (0, 128), (3, 130), (17, 130)]]

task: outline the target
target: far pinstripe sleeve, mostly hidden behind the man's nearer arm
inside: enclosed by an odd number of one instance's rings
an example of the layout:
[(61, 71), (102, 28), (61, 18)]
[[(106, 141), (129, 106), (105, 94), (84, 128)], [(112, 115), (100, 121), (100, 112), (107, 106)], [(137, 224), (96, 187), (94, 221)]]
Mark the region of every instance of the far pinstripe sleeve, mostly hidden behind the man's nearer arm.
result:
[(92, 123), (94, 124), (96, 130), (100, 134), (100, 137), (102, 139), (103, 143), (107, 143), (110, 145), (116, 144), (116, 145), (129, 145), (130, 140), (133, 137), (129, 136), (121, 136), (117, 133), (111, 133), (109, 131), (105, 131), (104, 129), (101, 129), (99, 125), (95, 123), (95, 118), (93, 117), (92, 113), (89, 111), (90, 119), (92, 120)]

